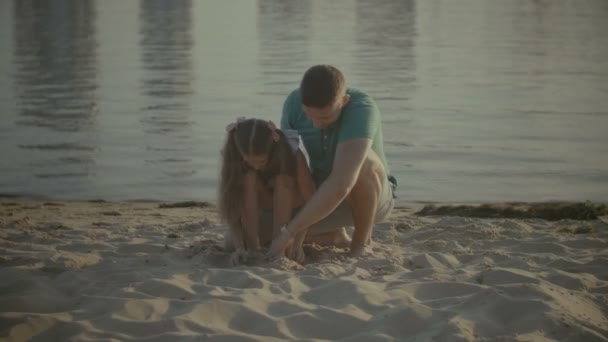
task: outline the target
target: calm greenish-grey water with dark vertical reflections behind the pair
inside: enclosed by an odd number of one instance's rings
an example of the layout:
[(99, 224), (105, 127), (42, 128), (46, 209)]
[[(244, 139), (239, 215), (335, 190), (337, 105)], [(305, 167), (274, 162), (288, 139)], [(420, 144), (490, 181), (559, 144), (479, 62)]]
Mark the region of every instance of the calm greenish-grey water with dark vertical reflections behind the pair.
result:
[(608, 201), (605, 0), (0, 0), (0, 193), (214, 200), (224, 126), (313, 64), (401, 201)]

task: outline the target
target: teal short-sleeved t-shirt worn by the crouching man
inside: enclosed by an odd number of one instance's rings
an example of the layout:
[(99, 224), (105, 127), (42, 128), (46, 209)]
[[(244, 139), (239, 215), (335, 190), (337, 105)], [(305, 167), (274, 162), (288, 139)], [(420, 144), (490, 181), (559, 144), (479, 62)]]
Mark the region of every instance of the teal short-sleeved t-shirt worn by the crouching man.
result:
[(310, 157), (312, 177), (317, 186), (331, 173), (336, 146), (339, 143), (356, 138), (371, 139), (372, 150), (384, 163), (394, 195), (397, 181), (390, 176), (384, 155), (380, 110), (371, 96), (365, 92), (348, 88), (346, 93), (350, 95), (350, 101), (342, 109), (338, 120), (328, 128), (320, 129), (314, 127), (312, 120), (304, 113), (300, 90), (294, 90), (283, 105), (281, 129), (295, 129), (302, 137)]

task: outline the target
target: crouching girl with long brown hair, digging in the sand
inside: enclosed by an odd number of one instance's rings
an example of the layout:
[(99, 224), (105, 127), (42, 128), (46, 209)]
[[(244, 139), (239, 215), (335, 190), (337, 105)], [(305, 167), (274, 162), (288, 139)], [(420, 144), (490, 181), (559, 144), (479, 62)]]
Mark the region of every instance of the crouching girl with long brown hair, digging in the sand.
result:
[[(219, 187), (220, 218), (229, 226), (231, 262), (247, 261), (279, 234), (280, 227), (312, 195), (314, 183), (295, 131), (272, 121), (239, 118), (226, 126)], [(304, 261), (300, 233), (286, 256)]]

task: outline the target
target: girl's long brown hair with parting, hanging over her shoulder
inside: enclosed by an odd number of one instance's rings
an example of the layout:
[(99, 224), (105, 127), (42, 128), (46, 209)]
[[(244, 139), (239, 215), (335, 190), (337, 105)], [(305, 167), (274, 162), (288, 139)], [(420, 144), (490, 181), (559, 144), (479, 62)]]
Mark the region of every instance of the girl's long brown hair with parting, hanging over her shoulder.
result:
[(296, 176), (296, 157), (289, 146), (287, 137), (279, 129), (277, 141), (272, 138), (272, 128), (268, 121), (247, 119), (237, 122), (227, 132), (222, 149), (222, 168), (218, 191), (220, 219), (230, 226), (237, 226), (243, 207), (243, 179), (249, 167), (243, 155), (268, 155), (264, 172), (271, 176), (280, 174)]

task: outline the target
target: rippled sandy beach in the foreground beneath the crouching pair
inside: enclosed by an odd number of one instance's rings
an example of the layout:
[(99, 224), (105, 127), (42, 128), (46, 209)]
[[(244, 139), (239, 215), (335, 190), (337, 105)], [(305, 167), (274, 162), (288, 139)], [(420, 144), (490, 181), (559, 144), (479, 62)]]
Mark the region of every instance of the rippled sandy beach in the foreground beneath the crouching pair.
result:
[(608, 341), (608, 216), (421, 207), (232, 267), (212, 204), (2, 199), (0, 340)]

